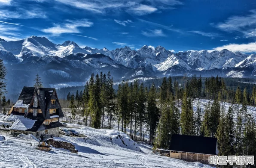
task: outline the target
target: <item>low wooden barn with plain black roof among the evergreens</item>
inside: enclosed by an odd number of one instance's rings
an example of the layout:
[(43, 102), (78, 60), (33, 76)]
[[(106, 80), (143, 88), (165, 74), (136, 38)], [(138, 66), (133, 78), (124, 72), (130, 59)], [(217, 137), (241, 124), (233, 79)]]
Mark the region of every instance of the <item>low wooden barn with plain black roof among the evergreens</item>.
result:
[(202, 136), (172, 135), (170, 157), (188, 162), (209, 164), (210, 156), (218, 155), (217, 139)]

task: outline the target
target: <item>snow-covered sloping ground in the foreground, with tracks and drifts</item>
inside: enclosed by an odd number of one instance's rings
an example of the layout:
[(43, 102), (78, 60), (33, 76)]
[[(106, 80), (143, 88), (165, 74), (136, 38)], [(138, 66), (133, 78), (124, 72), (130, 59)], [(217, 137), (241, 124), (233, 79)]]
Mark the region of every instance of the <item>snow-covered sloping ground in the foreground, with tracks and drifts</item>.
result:
[[(75, 145), (79, 151), (70, 153), (67, 150), (52, 148), (50, 152), (43, 152), (33, 149), (20, 143), (0, 143), (0, 167), (1, 168), (210, 168), (198, 162), (189, 163), (178, 159), (165, 156), (158, 156), (152, 153), (152, 147), (145, 144), (136, 144), (130, 141), (128, 136), (121, 133), (125, 144), (121, 147), (120, 142), (113, 143), (108, 137), (116, 139), (120, 135), (116, 130), (96, 130), (81, 125), (69, 125), (79, 133), (87, 136), (81, 137), (61, 136), (55, 139), (68, 141)], [(6, 140), (10, 137), (6, 136)], [(119, 139), (119, 138), (118, 138)], [(10, 141), (8, 141), (10, 142)], [(136, 145), (134, 145), (134, 144)], [(141, 151), (132, 150), (133, 146), (140, 148)]]

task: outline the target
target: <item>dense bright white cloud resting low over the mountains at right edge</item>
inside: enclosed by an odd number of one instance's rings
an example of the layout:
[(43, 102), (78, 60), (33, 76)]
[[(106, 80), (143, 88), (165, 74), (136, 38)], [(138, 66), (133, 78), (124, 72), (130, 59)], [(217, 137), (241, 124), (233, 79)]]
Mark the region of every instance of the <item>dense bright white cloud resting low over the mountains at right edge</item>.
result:
[(242, 53), (253, 53), (253, 52), (256, 52), (256, 42), (248, 43), (248, 44), (227, 44), (221, 47), (214, 48), (214, 50), (218, 50), (218, 51), (223, 49), (228, 49), (233, 52), (240, 51)]

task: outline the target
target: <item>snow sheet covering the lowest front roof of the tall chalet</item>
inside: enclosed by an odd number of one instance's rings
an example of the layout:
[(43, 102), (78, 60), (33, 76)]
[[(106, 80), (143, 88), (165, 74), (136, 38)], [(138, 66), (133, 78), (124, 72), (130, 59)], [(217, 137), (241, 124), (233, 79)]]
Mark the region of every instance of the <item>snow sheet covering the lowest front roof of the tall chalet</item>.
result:
[(37, 120), (31, 120), (29, 118), (18, 118), (13, 124), (12, 127), (10, 127), (11, 130), (20, 130), (25, 131), (27, 129), (30, 129), (34, 126), (35, 122)]

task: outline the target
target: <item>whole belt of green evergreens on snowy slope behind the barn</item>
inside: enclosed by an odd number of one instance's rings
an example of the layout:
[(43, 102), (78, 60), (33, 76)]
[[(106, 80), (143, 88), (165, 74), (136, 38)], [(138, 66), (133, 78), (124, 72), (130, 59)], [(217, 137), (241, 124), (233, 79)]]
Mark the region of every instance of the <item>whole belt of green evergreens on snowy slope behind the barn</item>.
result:
[[(89, 121), (91, 127), (103, 128), (106, 115), (107, 128), (113, 128), (115, 121), (118, 130), (135, 140), (143, 140), (146, 131), (149, 144), (155, 148), (168, 149), (172, 134), (184, 134), (216, 137), (221, 155), (255, 155), (255, 119), (247, 110), (247, 105), (253, 105), (256, 99), (255, 86), (252, 90), (248, 93), (238, 86), (229, 95), (222, 78), (202, 81), (201, 77), (193, 76), (184, 77), (183, 83), (164, 77), (160, 87), (154, 83), (145, 87), (137, 80), (122, 81), (115, 91), (110, 73), (101, 73), (92, 74), (84, 90), (76, 91), (76, 95), (69, 93), (67, 99), (73, 109), (72, 100), (78, 101), (85, 125)], [(204, 97), (211, 100), (202, 105), (200, 98)], [(232, 102), (226, 109), (224, 102), (228, 100)]]

